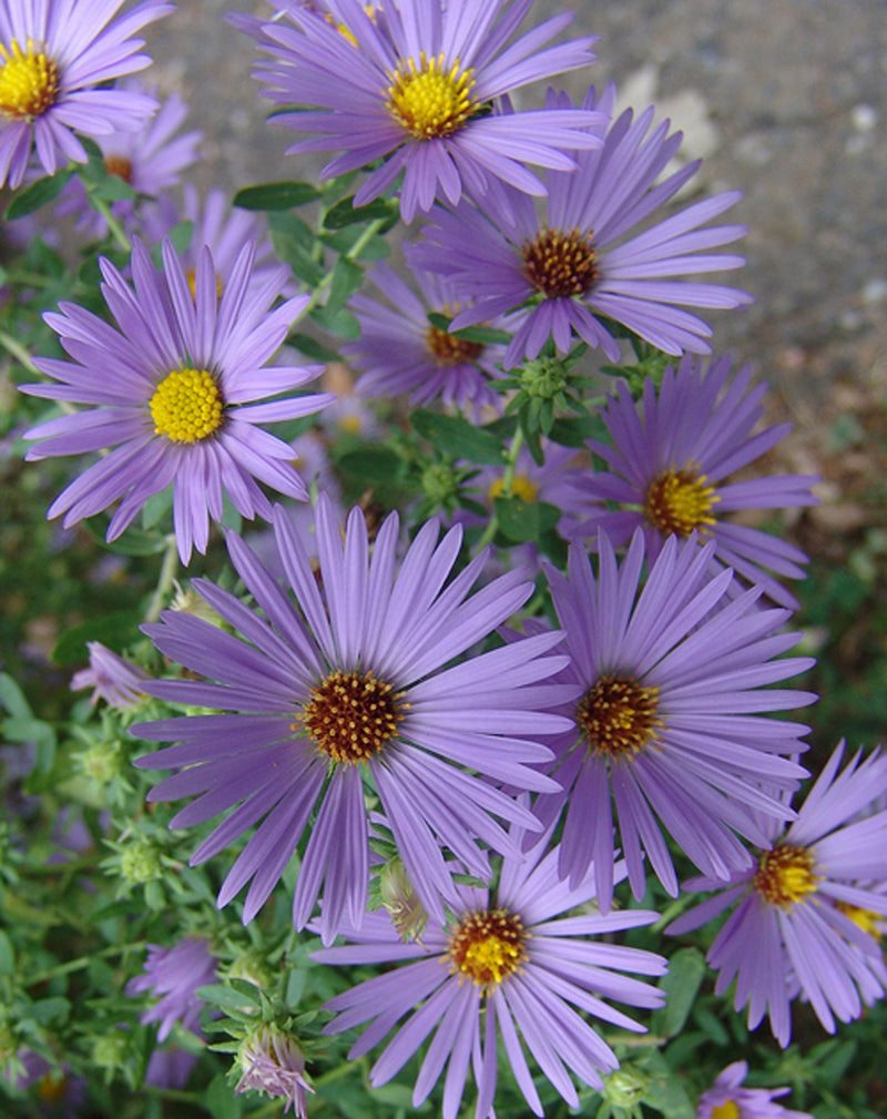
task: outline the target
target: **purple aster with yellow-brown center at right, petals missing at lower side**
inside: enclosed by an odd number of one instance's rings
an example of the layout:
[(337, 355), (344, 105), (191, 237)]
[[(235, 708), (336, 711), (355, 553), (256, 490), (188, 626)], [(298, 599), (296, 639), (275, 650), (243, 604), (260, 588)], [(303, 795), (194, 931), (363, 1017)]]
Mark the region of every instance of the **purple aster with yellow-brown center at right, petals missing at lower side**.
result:
[(594, 538), (603, 529), (619, 546), (640, 527), (651, 556), (671, 535), (710, 537), (720, 563), (762, 584), (781, 605), (794, 608), (795, 598), (764, 568), (803, 579), (799, 564), (808, 562), (804, 553), (770, 533), (730, 524), (720, 514), (814, 505), (810, 488), (819, 478), (779, 474), (729, 481), (791, 430), (791, 424), (774, 424), (753, 434), (764, 415), (761, 399), (767, 386), (748, 391), (749, 365), (734, 378), (729, 374), (729, 357), (713, 360), (707, 369), (685, 357), (677, 373), (671, 366), (666, 369), (659, 393), (652, 380), (644, 383), (642, 404), (635, 404), (620, 382), (601, 413), (612, 444), (587, 441), (608, 470), (573, 477), (564, 530)]

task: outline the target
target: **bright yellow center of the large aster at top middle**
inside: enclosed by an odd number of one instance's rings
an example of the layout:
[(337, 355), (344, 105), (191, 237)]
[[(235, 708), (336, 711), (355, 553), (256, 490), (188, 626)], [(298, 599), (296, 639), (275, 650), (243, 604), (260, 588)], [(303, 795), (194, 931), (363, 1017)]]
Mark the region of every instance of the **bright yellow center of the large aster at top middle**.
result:
[(452, 135), (478, 111), (471, 98), (473, 74), (461, 69), (457, 58), (446, 69), (443, 54), (426, 58), (423, 50), (418, 66), (407, 58), (389, 74), (386, 106), (416, 140)]

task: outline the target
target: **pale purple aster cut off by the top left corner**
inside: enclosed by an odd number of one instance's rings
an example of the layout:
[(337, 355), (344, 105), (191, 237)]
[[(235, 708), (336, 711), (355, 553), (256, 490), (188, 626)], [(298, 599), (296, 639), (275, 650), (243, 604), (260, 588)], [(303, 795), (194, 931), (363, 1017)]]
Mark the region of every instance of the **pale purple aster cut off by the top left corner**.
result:
[(0, 2), (0, 186), (19, 186), (31, 148), (47, 175), (85, 163), (74, 132), (101, 137), (138, 129), (157, 109), (143, 93), (104, 83), (151, 62), (130, 36), (172, 11), (145, 0), (114, 19), (123, 0)]

